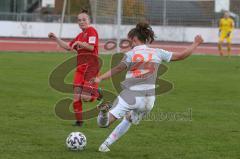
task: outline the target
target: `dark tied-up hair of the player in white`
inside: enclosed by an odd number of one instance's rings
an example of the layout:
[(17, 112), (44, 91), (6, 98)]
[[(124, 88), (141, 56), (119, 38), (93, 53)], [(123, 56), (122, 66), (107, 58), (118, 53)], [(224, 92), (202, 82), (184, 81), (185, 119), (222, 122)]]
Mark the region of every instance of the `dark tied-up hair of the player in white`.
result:
[(128, 38), (133, 39), (137, 37), (143, 43), (152, 43), (154, 41), (154, 31), (146, 22), (140, 22), (135, 28), (129, 31)]

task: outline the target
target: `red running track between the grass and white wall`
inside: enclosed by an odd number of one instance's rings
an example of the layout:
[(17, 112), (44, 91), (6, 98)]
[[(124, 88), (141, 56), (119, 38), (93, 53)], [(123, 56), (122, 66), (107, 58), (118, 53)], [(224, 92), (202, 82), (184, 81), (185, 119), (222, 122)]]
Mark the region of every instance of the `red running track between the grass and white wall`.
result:
[[(68, 41), (68, 40), (67, 40)], [(101, 53), (107, 52), (104, 50), (104, 41), (100, 42)], [(174, 43), (174, 42), (154, 42), (151, 47), (157, 47), (169, 51), (181, 51), (186, 48), (189, 43)], [(23, 38), (0, 38), (0, 51), (15, 51), (15, 52), (64, 52), (57, 44), (48, 39), (23, 39)], [(216, 44), (202, 44), (194, 52), (194, 54), (218, 55)], [(232, 46), (232, 54), (240, 54), (240, 45)]]

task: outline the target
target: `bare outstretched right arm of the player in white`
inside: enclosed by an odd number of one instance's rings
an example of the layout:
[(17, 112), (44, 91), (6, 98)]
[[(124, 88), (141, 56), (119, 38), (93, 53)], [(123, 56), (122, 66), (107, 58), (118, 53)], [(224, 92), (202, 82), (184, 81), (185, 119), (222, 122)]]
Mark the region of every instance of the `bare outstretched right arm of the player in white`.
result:
[(188, 56), (190, 56), (193, 51), (201, 44), (203, 43), (203, 38), (200, 35), (197, 35), (194, 39), (194, 42), (192, 43), (191, 46), (189, 46), (188, 48), (186, 48), (184, 51), (182, 52), (174, 52), (172, 53), (172, 58), (171, 61), (179, 61), (179, 60), (183, 60), (185, 58), (187, 58)]

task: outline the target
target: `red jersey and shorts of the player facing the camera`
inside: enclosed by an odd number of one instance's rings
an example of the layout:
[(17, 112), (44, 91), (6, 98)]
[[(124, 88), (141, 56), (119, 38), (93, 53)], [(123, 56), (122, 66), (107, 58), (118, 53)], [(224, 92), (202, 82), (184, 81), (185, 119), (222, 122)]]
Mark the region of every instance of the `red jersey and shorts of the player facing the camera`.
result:
[(98, 62), (98, 33), (96, 29), (93, 27), (88, 27), (86, 30), (81, 32), (75, 39), (73, 39), (69, 46), (72, 45), (76, 41), (86, 42), (89, 45), (94, 46), (93, 51), (89, 51), (86, 49), (77, 49), (77, 72), (80, 72), (84, 76), (84, 80), (90, 80), (93, 77), (96, 77), (99, 71), (99, 62)]

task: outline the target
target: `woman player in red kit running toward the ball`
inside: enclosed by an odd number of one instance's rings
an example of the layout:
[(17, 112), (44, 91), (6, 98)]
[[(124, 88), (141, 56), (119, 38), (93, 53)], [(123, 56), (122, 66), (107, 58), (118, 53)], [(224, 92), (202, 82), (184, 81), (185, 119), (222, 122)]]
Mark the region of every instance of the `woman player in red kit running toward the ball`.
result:
[(56, 37), (54, 33), (49, 33), (49, 38), (55, 40), (57, 44), (65, 50), (76, 50), (77, 68), (74, 75), (74, 102), (73, 108), (76, 115), (76, 126), (81, 126), (82, 121), (82, 101), (91, 102), (99, 99), (98, 85), (89, 81), (98, 75), (98, 33), (90, 26), (90, 18), (86, 10), (78, 15), (78, 24), (82, 32), (70, 43), (66, 43)]

